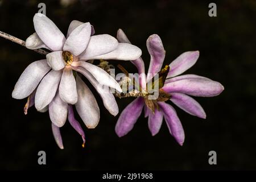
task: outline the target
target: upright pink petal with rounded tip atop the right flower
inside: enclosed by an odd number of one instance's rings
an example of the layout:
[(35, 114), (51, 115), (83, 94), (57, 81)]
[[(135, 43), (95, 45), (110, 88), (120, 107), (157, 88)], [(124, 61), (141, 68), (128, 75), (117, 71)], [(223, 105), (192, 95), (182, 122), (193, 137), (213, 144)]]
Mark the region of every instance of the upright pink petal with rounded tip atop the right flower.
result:
[[(163, 65), (166, 51), (164, 50), (162, 40), (156, 34), (150, 35), (147, 39), (147, 50), (150, 53), (150, 66), (148, 73), (158, 73)], [(152, 78), (152, 74), (148, 74), (147, 80)]]

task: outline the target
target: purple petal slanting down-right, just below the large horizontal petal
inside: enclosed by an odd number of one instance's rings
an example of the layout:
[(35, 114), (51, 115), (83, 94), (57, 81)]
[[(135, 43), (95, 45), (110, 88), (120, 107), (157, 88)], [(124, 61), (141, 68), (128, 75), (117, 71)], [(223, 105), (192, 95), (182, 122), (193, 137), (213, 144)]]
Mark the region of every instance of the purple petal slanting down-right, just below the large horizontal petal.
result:
[(188, 114), (195, 115), (203, 119), (206, 118), (203, 107), (192, 97), (189, 97), (183, 93), (171, 93), (170, 100)]

